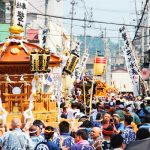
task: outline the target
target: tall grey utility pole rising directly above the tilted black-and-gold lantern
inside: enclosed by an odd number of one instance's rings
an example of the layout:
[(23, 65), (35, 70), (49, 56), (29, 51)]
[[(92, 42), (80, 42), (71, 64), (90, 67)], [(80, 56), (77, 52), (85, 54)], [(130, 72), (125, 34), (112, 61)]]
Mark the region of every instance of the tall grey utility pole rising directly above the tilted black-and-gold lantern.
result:
[(75, 6), (75, 0), (72, 0), (71, 5), (72, 5), (72, 9), (71, 9), (71, 29), (70, 29), (70, 51), (72, 50), (72, 33), (73, 33), (73, 18), (74, 18), (74, 6)]

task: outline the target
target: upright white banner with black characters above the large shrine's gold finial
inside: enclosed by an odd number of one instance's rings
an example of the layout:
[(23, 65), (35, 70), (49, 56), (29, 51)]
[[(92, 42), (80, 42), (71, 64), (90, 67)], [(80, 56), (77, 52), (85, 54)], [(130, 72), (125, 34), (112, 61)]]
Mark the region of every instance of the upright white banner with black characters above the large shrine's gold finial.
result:
[(14, 25), (18, 25), (25, 28), (27, 18), (27, 6), (28, 0), (16, 0)]

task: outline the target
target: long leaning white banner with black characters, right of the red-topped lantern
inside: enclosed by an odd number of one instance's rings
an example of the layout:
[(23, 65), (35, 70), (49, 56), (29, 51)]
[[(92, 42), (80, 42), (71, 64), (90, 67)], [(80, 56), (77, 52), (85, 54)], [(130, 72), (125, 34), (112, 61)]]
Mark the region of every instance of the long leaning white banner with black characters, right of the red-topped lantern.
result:
[(132, 45), (131, 45), (131, 42), (128, 40), (129, 37), (127, 35), (127, 31), (124, 26), (120, 29), (120, 32), (124, 40), (124, 46), (122, 49), (123, 49), (123, 53), (124, 53), (124, 57), (126, 61), (127, 70), (132, 80), (133, 93), (134, 93), (134, 96), (138, 96), (139, 95), (139, 81), (137, 80), (137, 76), (139, 75), (139, 77), (141, 77), (141, 73), (138, 69), (138, 65), (136, 63), (136, 59), (132, 51)]

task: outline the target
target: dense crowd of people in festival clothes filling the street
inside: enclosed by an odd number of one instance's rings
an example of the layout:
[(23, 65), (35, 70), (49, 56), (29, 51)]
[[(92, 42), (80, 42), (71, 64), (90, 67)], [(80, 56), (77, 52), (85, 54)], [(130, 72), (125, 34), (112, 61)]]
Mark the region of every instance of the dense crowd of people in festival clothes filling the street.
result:
[(1, 121), (1, 149), (150, 150), (149, 98), (132, 94), (93, 98), (90, 109), (82, 100), (67, 97), (60, 108), (62, 121), (58, 127), (42, 120), (22, 124), (19, 118), (13, 118), (7, 129)]

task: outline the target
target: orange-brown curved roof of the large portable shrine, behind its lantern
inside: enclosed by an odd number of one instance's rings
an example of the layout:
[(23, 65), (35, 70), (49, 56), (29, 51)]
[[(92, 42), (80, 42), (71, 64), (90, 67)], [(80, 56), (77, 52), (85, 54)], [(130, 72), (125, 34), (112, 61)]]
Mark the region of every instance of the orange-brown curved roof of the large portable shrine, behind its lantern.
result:
[[(27, 41), (22, 41), (23, 46), (15, 40), (12, 42), (6, 41), (0, 43), (0, 63), (28, 63), (30, 62), (30, 53), (34, 52), (35, 49), (41, 50), (42, 48), (31, 44)], [(3, 48), (5, 50), (3, 50)], [(61, 58), (51, 54), (50, 64), (61, 63)]]

